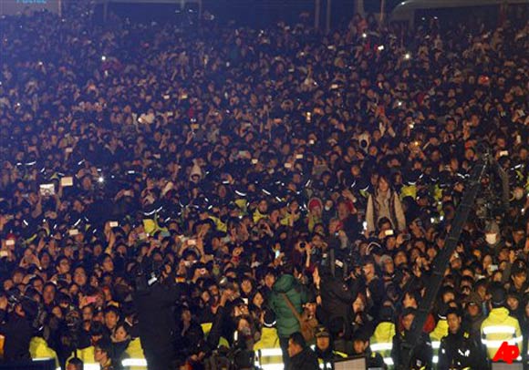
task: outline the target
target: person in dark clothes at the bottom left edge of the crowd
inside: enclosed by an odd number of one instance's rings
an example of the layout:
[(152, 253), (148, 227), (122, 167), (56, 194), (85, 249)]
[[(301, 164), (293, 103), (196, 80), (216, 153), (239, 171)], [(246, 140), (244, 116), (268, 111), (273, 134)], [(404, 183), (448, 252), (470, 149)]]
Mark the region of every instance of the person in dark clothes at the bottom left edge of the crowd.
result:
[(36, 302), (22, 297), (15, 300), (12, 310), (8, 310), (8, 305), (7, 297), (0, 296), (0, 334), (5, 336), (4, 361), (31, 361), (29, 342), (38, 310)]

